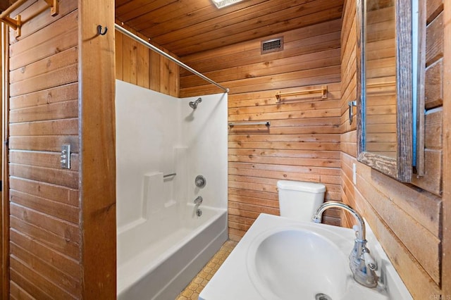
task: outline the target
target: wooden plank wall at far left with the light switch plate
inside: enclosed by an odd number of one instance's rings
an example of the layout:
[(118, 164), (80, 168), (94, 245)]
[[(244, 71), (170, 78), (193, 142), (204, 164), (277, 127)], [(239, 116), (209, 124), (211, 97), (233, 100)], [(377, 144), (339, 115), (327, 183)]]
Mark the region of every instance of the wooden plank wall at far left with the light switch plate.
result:
[[(30, 0), (26, 20), (47, 6)], [(78, 1), (25, 23), (10, 46), (11, 299), (80, 299)], [(61, 144), (72, 168), (61, 169)]]

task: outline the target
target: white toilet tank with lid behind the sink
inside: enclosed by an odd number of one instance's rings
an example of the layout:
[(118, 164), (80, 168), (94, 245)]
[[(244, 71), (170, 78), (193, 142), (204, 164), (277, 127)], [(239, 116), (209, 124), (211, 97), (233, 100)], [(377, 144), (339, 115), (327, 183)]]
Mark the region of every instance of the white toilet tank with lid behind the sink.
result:
[(318, 208), (324, 201), (326, 186), (314, 182), (279, 180), (280, 216), (310, 221)]

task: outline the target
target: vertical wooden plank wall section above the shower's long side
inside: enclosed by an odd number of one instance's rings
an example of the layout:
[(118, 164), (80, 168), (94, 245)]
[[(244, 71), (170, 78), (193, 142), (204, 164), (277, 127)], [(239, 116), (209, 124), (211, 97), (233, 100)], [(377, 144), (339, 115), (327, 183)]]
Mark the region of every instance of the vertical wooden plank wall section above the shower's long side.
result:
[[(168, 51), (166, 53), (177, 58)], [(116, 79), (178, 97), (179, 78), (180, 67), (176, 63), (116, 31)]]

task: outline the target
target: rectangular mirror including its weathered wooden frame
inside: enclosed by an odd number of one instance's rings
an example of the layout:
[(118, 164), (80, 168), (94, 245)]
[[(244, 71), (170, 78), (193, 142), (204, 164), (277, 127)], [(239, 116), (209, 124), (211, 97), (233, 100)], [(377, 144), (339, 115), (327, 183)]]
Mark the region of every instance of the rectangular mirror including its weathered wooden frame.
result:
[(357, 0), (357, 160), (412, 178), (412, 0)]

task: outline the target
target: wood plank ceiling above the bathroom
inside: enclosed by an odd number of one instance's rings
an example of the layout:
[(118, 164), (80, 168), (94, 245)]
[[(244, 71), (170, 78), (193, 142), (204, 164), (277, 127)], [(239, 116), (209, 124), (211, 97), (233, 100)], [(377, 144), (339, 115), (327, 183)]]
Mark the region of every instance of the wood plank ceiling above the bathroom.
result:
[(116, 20), (183, 57), (341, 18), (342, 0), (116, 0)]

